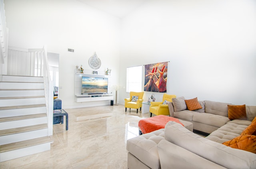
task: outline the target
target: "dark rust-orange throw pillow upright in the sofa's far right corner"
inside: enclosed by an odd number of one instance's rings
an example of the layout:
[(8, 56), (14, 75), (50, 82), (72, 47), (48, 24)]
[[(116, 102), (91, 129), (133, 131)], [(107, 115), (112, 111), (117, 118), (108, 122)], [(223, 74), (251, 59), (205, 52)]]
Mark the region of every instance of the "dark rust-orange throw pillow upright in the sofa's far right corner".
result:
[(228, 118), (230, 120), (246, 120), (246, 109), (244, 105), (228, 105)]

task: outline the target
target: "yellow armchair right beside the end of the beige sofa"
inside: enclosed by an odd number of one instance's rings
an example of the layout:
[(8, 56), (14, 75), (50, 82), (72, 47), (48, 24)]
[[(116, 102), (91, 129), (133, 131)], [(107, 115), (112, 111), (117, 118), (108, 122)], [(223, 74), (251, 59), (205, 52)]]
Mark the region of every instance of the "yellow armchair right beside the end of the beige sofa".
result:
[(164, 100), (168, 102), (172, 102), (172, 98), (176, 98), (176, 95), (164, 94), (162, 102), (151, 102), (149, 107), (150, 117), (152, 117), (152, 113), (156, 115), (169, 115), (168, 104), (163, 104)]

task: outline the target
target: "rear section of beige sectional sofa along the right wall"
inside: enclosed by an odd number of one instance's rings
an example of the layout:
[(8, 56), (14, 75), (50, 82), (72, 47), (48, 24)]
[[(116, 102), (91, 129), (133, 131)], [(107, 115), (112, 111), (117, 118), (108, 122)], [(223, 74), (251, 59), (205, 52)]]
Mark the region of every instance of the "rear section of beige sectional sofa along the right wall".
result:
[[(168, 103), (170, 116), (192, 122), (194, 130), (210, 134), (230, 122), (227, 105), (232, 105), (231, 103), (204, 100), (199, 101), (202, 109), (190, 111), (187, 110), (184, 99), (174, 98)], [(247, 121), (252, 121), (256, 116), (256, 106), (246, 106), (246, 116)]]

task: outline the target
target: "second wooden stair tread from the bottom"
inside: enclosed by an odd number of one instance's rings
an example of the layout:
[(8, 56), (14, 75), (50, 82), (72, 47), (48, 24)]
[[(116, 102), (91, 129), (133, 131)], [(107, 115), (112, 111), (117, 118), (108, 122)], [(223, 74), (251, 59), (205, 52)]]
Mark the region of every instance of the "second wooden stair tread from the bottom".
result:
[(6, 136), (10, 134), (17, 134), (17, 133), (23, 133), (23, 132), (30, 132), (34, 130), (40, 130), (48, 128), (47, 124), (38, 124), (34, 126), (26, 126), (26, 127), (19, 127), (19, 128), (11, 128), (6, 130), (0, 130), (0, 136)]

